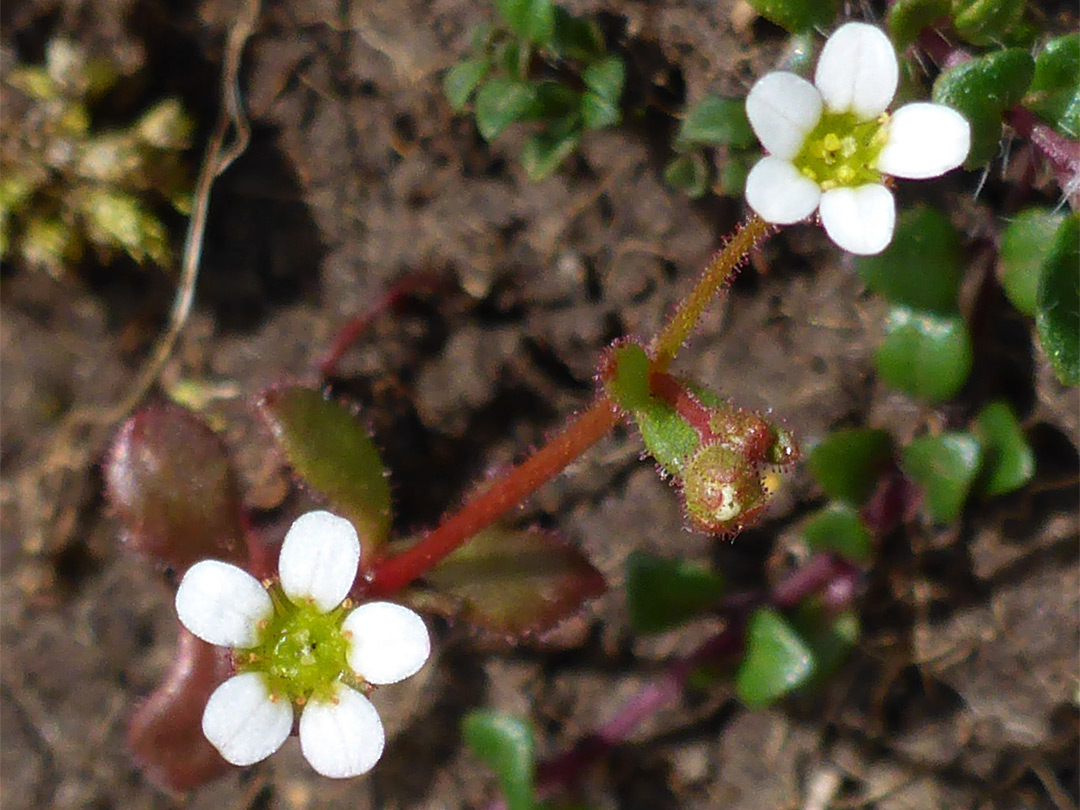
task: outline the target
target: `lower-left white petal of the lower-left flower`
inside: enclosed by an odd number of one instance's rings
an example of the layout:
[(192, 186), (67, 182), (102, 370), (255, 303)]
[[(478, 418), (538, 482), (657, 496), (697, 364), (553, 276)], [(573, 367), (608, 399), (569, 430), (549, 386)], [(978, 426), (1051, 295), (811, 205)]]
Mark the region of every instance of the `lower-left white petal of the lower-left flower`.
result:
[(256, 672), (226, 680), (214, 690), (203, 711), (203, 733), (233, 765), (254, 765), (285, 742), (293, 730), (293, 704), (270, 700)]

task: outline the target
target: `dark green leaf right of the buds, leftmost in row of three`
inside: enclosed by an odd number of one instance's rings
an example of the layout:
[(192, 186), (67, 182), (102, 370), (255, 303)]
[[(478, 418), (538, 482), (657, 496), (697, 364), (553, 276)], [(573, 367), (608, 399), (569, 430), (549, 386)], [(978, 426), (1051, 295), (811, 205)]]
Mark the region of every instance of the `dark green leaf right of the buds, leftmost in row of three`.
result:
[(829, 432), (810, 450), (810, 473), (829, 498), (859, 505), (892, 458), (892, 436), (872, 428)]

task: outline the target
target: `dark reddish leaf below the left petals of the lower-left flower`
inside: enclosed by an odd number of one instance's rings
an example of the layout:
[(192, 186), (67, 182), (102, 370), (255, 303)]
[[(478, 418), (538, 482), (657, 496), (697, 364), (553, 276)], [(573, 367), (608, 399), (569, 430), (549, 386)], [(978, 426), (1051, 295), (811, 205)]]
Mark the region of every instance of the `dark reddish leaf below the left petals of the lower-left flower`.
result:
[(127, 728), (132, 758), (159, 787), (191, 791), (230, 768), (203, 735), (202, 714), (211, 692), (231, 674), (229, 650), (180, 627), (172, 667)]

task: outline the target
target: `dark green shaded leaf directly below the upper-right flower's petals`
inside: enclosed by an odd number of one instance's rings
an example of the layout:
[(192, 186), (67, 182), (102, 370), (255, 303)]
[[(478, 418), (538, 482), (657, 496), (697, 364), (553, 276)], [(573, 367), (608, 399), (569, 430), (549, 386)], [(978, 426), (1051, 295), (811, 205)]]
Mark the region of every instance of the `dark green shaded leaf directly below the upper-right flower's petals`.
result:
[(963, 275), (960, 234), (929, 205), (901, 212), (892, 243), (876, 256), (860, 256), (863, 283), (891, 303), (955, 314)]

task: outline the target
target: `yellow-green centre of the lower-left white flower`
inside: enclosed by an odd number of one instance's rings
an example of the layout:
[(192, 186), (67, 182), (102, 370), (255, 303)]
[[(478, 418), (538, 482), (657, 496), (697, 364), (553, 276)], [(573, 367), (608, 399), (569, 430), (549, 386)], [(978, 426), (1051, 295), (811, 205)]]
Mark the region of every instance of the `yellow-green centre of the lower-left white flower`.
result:
[(330, 700), (335, 684), (352, 677), (349, 638), (341, 629), (345, 606), (321, 613), (311, 603), (294, 603), (274, 585), (274, 612), (259, 625), (258, 644), (237, 650), (240, 672), (259, 672), (270, 693), (302, 704), (312, 697)]

